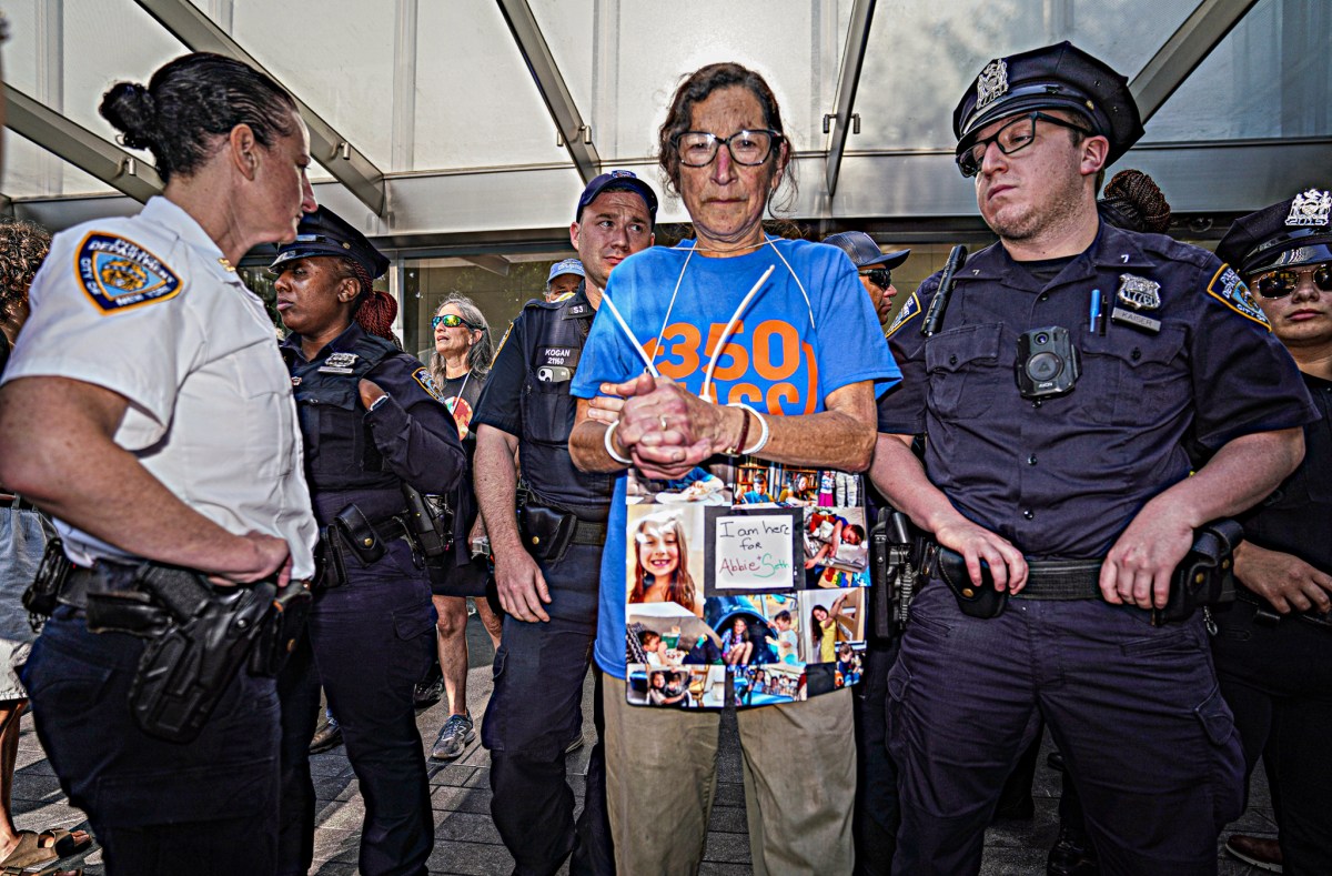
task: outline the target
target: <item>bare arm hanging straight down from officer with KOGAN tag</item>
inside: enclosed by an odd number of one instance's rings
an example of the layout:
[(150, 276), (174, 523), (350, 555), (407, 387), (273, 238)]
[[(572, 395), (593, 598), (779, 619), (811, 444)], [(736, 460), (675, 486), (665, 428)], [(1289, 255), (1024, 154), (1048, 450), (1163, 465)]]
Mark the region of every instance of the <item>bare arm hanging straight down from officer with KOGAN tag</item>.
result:
[(500, 604), (518, 620), (550, 620), (541, 603), (550, 602), (550, 590), (541, 567), (523, 547), (514, 514), (514, 495), (518, 491), (518, 467), (514, 454), (518, 438), (502, 429), (482, 423), (477, 429), (477, 453), (472, 461), (476, 469), (477, 501), (490, 533), (490, 548), (496, 558), (496, 587)]

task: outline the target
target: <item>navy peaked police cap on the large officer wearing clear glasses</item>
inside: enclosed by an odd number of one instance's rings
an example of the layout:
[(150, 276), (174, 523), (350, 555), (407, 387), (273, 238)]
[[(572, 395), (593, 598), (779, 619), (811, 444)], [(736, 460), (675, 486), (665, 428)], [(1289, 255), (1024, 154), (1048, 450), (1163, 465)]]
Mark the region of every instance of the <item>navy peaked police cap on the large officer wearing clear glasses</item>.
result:
[(1066, 40), (986, 64), (952, 110), (958, 154), (990, 122), (1036, 109), (1067, 109), (1087, 117), (1092, 132), (1110, 141), (1106, 166), (1143, 136), (1128, 80)]

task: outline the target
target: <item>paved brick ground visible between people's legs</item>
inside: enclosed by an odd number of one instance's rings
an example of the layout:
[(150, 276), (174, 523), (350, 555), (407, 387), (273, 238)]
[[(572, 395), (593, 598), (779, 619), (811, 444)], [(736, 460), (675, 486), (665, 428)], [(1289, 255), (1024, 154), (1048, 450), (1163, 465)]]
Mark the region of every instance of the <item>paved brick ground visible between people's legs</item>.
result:
[[(472, 619), (468, 632), (472, 644), (468, 700), (472, 714), (480, 720), (486, 698), (490, 695), (492, 650), (476, 618)], [(442, 706), (436, 706), (418, 716), (422, 744), (428, 748), (446, 718), (444, 711)], [(585, 688), (583, 714), (586, 715), (583, 734), (591, 739), (590, 682)], [(722, 722), (722, 736), (717, 803), (713, 807), (701, 869), (705, 876), (739, 876), (751, 872), (734, 722)], [(71, 807), (60, 792), (60, 785), (37, 744), (29, 716), (24, 718), (19, 748), (19, 769), (13, 787), (15, 820), (19, 827), (39, 831), (48, 827), (87, 827), (83, 812)], [(569, 755), (567, 760), (570, 784), (579, 800), (589, 754), (590, 744)], [(356, 873), (356, 849), (364, 812), (356, 776), (341, 747), (316, 755), (312, 766), (318, 795), (318, 828), (312, 873), (352, 876)], [(474, 743), (452, 763), (432, 766), (432, 800), (436, 813), (436, 849), (429, 864), (432, 873), (502, 876), (513, 871), (513, 859), (500, 843), (500, 835), (490, 821), (489, 766), (489, 755), (480, 743)], [(1276, 827), (1261, 775), (1255, 776), (1253, 784), (1249, 811), (1232, 824), (1231, 829), (1273, 836)], [(1058, 773), (1044, 766), (1042, 756), (1034, 789), (1035, 817), (1023, 823), (1000, 823), (987, 832), (982, 873), (986, 876), (1044, 873), (1046, 852), (1058, 832), (1059, 791)], [(1219, 855), (1221, 876), (1260, 872), (1227, 857), (1224, 852)], [(99, 851), (88, 855), (84, 865), (88, 876), (104, 873)]]

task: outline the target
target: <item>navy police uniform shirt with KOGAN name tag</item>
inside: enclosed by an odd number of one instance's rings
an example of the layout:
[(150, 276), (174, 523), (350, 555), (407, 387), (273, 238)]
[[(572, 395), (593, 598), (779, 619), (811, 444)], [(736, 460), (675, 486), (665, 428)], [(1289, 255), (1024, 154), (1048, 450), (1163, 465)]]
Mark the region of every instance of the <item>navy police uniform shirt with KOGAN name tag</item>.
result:
[(529, 301), (500, 342), (473, 417), (518, 438), (522, 478), (539, 502), (585, 519), (605, 518), (614, 487), (569, 457), (578, 407), (569, 385), (595, 314), (583, 285), (565, 301)]

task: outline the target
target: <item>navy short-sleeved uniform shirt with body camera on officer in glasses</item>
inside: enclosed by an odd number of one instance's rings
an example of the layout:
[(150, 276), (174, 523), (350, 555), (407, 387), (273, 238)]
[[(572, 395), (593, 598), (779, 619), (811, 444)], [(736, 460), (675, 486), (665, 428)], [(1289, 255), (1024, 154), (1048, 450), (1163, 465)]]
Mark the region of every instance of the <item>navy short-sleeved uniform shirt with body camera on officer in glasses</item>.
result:
[[(1293, 361), (1239, 276), (1213, 254), (1102, 222), (1042, 286), (1000, 244), (958, 272), (939, 331), (920, 335), (940, 276), (888, 328), (900, 386), (879, 431), (926, 434), (926, 473), (964, 517), (1034, 559), (1103, 556), (1142, 506), (1249, 433), (1315, 418)], [(1104, 293), (1104, 333), (1091, 296)], [(1112, 316), (1114, 314), (1114, 316)], [(1063, 326), (1082, 375), (1024, 399), (1023, 331)]]

